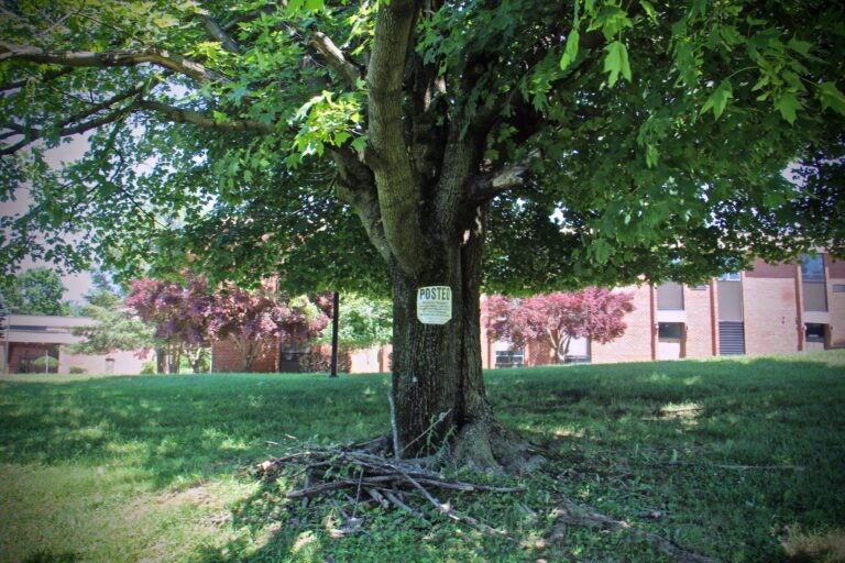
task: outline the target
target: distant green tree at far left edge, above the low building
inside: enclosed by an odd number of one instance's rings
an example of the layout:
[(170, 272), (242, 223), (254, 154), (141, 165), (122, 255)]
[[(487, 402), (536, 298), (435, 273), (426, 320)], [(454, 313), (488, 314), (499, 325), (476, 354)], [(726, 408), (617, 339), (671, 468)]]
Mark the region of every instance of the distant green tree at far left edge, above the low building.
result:
[(26, 269), (0, 287), (7, 307), (18, 314), (68, 314), (70, 309), (62, 300), (67, 289), (54, 271), (40, 266)]

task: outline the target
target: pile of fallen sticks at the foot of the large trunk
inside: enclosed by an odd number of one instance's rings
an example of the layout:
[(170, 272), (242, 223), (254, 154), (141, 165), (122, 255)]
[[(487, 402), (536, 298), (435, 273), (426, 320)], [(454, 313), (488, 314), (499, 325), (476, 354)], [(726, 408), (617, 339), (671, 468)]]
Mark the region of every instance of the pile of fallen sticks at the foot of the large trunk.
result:
[(298, 488), (285, 497), (300, 501), (303, 506), (317, 497), (339, 496), (353, 506), (378, 505), (384, 509), (396, 508), (427, 521), (422, 506), (430, 505), (440, 515), (469, 525), (484, 533), (504, 536), (478, 519), (458, 512), (450, 500), (440, 501), (441, 492), (460, 493), (523, 493), (525, 487), (497, 487), (480, 485), (445, 477), (426, 467), (427, 460), (397, 460), (384, 457), (366, 450), (341, 446), (307, 446), (295, 453), (271, 457), (259, 465), (262, 478), (272, 481), (287, 476), (298, 479)]

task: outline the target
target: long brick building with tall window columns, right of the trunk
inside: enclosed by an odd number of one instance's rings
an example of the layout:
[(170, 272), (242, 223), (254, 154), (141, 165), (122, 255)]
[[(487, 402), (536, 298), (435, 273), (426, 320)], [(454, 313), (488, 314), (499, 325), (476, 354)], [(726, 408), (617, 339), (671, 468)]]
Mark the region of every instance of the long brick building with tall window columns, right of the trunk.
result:
[[(667, 283), (634, 292), (628, 329), (607, 344), (581, 342), (593, 363), (761, 355), (845, 346), (845, 262), (828, 254), (800, 264), (755, 261), (747, 272), (698, 286)], [(547, 364), (548, 346), (483, 343), (484, 367)], [(514, 362), (513, 358), (518, 358)]]

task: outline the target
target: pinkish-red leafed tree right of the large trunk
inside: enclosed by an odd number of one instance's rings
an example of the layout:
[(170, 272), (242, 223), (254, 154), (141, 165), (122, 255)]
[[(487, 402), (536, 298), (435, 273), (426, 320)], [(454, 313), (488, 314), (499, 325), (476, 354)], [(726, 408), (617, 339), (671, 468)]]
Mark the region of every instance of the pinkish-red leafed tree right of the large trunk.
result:
[(588, 338), (602, 344), (625, 333), (623, 320), (634, 310), (633, 294), (599, 287), (581, 291), (540, 294), (526, 299), (501, 295), (487, 298), (490, 333), (515, 345), (547, 342), (562, 362), (572, 339)]

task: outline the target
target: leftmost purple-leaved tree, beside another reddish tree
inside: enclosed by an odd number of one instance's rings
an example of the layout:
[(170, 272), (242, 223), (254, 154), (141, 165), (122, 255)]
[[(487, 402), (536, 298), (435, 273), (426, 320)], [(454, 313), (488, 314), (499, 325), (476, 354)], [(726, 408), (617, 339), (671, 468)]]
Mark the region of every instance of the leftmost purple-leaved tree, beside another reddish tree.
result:
[(215, 298), (204, 278), (190, 276), (185, 285), (136, 279), (124, 302), (155, 327), (154, 335), (162, 342), (156, 351), (160, 372), (177, 373), (183, 357), (187, 357), (194, 373), (200, 371), (215, 338)]

